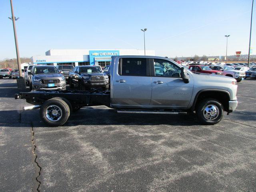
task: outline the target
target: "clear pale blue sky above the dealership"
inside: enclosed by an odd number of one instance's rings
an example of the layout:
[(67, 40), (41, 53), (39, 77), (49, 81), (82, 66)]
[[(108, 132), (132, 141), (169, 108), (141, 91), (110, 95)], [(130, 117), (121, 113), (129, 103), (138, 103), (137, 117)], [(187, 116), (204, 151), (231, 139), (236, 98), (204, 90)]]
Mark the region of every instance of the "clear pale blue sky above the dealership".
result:
[[(252, 0), (13, 0), (20, 56), (49, 49), (146, 49), (158, 56), (248, 53)], [(256, 4), (256, 2), (255, 2)], [(256, 6), (252, 26), (256, 54)], [(0, 0), (0, 59), (15, 58), (10, 1)]]

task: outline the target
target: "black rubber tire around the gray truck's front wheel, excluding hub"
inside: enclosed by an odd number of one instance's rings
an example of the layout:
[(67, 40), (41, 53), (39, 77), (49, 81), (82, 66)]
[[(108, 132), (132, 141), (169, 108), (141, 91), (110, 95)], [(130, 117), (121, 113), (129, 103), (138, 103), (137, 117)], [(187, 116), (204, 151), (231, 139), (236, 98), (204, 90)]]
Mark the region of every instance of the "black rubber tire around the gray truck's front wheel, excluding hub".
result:
[[(205, 114), (205, 108), (207, 106), (214, 105), (218, 108), (218, 114), (213, 120), (209, 120), (204, 117)], [(204, 125), (214, 125), (220, 122), (224, 115), (224, 107), (223, 105), (214, 98), (207, 98), (199, 102), (197, 108), (196, 108), (196, 115), (198, 117), (198, 120)]]

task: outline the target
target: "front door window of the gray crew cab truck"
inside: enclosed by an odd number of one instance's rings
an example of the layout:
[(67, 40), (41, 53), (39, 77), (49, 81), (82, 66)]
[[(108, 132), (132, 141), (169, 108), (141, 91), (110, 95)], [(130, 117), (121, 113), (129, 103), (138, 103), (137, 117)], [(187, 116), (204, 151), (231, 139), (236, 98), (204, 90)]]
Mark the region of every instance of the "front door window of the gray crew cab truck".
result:
[(180, 77), (181, 72), (178, 66), (163, 59), (154, 59), (154, 70), (155, 76), (160, 77)]

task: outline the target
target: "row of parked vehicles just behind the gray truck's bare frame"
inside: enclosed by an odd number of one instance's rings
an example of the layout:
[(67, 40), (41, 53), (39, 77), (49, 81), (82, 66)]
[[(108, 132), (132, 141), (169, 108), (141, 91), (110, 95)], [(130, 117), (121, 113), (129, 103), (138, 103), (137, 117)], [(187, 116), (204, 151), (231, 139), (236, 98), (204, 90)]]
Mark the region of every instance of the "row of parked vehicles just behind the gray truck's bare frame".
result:
[(78, 86), (79, 90), (102, 88), (108, 90), (108, 75), (102, 73), (98, 66), (72, 66), (72, 65), (30, 65), (24, 76), (26, 85), (30, 90), (66, 90)]

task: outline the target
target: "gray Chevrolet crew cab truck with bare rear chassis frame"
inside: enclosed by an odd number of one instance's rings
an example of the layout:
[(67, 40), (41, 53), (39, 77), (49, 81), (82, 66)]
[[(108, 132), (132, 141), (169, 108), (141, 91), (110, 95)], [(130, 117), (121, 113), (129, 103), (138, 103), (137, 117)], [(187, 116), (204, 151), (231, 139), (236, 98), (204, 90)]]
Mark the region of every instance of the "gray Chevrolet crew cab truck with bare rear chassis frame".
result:
[(50, 126), (63, 125), (74, 110), (105, 105), (118, 113), (196, 113), (202, 124), (220, 122), (238, 104), (236, 80), (215, 74), (193, 74), (173, 60), (156, 56), (112, 56), (110, 91), (32, 91), (15, 98), (40, 108)]

